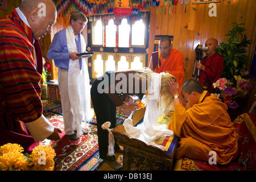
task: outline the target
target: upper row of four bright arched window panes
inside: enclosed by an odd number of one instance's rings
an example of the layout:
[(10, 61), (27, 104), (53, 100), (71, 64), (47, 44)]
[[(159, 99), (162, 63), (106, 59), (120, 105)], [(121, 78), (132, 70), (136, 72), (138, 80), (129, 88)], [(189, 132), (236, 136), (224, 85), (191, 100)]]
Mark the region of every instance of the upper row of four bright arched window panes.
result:
[(92, 22), (92, 46), (102, 47), (146, 47), (146, 21), (133, 23), (123, 18), (121, 23), (114, 19)]

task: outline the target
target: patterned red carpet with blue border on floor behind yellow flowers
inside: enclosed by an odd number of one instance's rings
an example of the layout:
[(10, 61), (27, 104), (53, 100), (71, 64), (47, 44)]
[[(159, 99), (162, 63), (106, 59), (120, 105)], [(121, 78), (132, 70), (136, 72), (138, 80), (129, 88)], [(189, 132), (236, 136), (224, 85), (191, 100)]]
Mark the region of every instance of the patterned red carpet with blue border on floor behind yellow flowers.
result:
[[(59, 127), (63, 131), (60, 134), (61, 139), (59, 141), (46, 139), (40, 143), (51, 145), (55, 149), (55, 171), (97, 170), (100, 167), (102, 160), (98, 158), (96, 161), (98, 136), (95, 125), (88, 124), (89, 133), (82, 135), (79, 140), (73, 141), (65, 136), (62, 115), (45, 112), (44, 116), (53, 126)], [(88, 167), (81, 168), (81, 166)]]

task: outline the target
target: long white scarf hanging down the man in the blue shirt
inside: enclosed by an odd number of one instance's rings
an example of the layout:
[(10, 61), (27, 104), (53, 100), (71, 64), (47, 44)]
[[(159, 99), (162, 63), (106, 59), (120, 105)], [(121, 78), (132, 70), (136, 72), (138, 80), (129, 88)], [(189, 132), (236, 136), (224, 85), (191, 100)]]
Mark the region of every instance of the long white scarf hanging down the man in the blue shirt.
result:
[[(75, 35), (73, 28), (68, 26), (66, 28), (66, 36), (68, 43), (68, 52), (78, 52), (76, 48)], [(84, 36), (80, 34), (81, 52), (86, 51), (86, 44)], [(82, 135), (81, 123), (84, 119), (84, 123), (90, 119), (90, 85), (89, 85), (89, 73), (86, 62), (88, 61), (84, 57), (82, 59), (82, 69), (80, 70), (79, 60), (69, 59), (68, 67), (68, 95), (71, 103), (71, 111), (74, 115), (76, 135), (80, 137)]]

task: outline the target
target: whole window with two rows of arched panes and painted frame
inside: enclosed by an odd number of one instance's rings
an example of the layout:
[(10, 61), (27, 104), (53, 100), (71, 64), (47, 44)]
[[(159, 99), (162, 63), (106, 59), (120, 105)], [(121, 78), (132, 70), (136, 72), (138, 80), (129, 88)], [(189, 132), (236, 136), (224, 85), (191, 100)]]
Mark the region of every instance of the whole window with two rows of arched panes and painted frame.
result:
[[(96, 18), (98, 20), (96, 20)], [(142, 14), (139, 20), (123, 16), (101, 15), (88, 23), (88, 51), (94, 52), (88, 60), (90, 79), (106, 71), (123, 71), (147, 66), (148, 24), (150, 15)], [(94, 21), (93, 21), (94, 19)], [(91, 33), (90, 33), (91, 32)], [(91, 63), (91, 64), (90, 64)]]

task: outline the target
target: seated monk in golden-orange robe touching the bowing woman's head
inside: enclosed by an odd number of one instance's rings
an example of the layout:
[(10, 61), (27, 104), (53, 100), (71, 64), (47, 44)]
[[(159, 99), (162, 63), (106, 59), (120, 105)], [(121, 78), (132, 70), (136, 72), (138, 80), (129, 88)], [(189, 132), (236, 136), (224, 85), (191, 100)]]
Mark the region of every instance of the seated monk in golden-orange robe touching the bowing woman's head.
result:
[(183, 96), (179, 92), (179, 85), (169, 80), (168, 89), (175, 102), (174, 117), (168, 129), (180, 137), (175, 158), (186, 156), (209, 162), (213, 156), (210, 151), (213, 151), (216, 152), (218, 164), (228, 164), (235, 159), (238, 154), (238, 134), (226, 112), (226, 104), (203, 91), (196, 80), (188, 80), (182, 86), (188, 109), (182, 105), (183, 101), (180, 102)]

